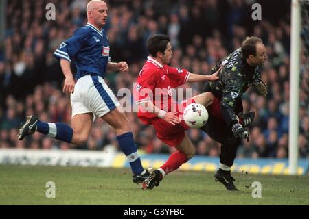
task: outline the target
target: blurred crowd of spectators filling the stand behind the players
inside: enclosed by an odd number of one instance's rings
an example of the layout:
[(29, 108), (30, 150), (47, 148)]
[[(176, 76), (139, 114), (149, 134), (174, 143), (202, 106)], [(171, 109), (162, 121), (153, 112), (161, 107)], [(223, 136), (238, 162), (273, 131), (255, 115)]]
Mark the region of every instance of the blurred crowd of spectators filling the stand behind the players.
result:
[[(56, 6), (54, 21), (45, 18), (47, 3)], [(249, 128), (251, 140), (242, 143), (238, 157), (288, 157), (288, 103), (292, 98), (289, 1), (280, 3), (286, 8), (275, 13), (272, 5), (262, 4), (261, 21), (251, 18), (253, 3), (265, 1), (108, 1), (108, 22), (104, 29), (111, 44), (110, 55), (115, 62), (128, 62), (130, 71), (108, 73), (106, 83), (115, 94), (120, 88), (132, 91), (148, 55), (146, 38), (153, 33), (168, 34), (172, 39), (171, 66), (201, 74), (209, 73), (216, 62), (240, 47), (246, 36), (258, 36), (264, 41), (268, 55), (262, 71), (268, 96), (266, 99), (259, 96), (253, 88), (244, 94), (244, 112), (254, 110), (256, 116)], [(86, 5), (84, 0), (8, 1), (5, 42), (0, 45), (0, 148), (72, 148), (40, 133), (23, 141), (17, 140), (16, 135), (19, 124), (30, 114), (44, 121), (70, 124), (69, 97), (62, 93), (63, 76), (52, 53), (76, 28), (85, 25)], [(301, 62), (299, 157), (309, 157), (308, 51), (301, 53)], [(187, 83), (182, 88), (192, 88), (195, 95), (203, 86), (203, 83)], [(136, 113), (126, 114), (140, 151), (173, 151), (156, 138), (151, 126), (139, 122)], [(187, 132), (198, 155), (219, 155), (220, 144), (205, 133), (199, 129)], [(117, 147), (115, 131), (97, 119), (87, 144), (76, 148), (102, 150), (106, 145)]]

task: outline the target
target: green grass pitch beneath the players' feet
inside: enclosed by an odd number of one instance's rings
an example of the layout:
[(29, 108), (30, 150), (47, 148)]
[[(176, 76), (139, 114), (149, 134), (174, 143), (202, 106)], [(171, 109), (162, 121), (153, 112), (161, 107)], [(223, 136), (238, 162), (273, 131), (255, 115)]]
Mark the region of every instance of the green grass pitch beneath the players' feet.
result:
[[(132, 183), (128, 168), (0, 165), (0, 205), (309, 205), (309, 177), (233, 174), (239, 192), (209, 172), (176, 170), (153, 190)], [(48, 181), (56, 198), (46, 198)], [(262, 198), (253, 198), (254, 181)]]

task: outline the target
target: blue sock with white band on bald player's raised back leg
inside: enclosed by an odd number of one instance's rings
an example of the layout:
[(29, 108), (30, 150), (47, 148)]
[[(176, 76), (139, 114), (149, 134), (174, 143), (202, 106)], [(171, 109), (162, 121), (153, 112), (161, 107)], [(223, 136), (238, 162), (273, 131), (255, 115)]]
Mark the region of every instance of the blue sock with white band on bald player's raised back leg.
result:
[(36, 123), (36, 131), (67, 143), (72, 142), (73, 129), (64, 123)]

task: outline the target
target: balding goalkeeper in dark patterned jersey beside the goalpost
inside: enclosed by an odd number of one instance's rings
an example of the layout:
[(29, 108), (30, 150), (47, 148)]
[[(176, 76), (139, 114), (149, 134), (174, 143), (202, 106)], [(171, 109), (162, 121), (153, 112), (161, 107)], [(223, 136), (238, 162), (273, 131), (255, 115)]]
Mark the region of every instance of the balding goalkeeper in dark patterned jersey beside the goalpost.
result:
[[(231, 177), (231, 166), (236, 157), (237, 148), (242, 139), (249, 141), (247, 127), (255, 113), (243, 116), (242, 94), (249, 86), (254, 86), (266, 97), (266, 84), (261, 79), (261, 66), (267, 59), (265, 46), (260, 38), (247, 37), (242, 47), (233, 51), (226, 60), (216, 64), (214, 73), (220, 65), (220, 79), (207, 81), (203, 92), (212, 92), (214, 102), (207, 107), (209, 120), (201, 129), (221, 144), (220, 166), (215, 173), (227, 190), (237, 190)], [(248, 114), (247, 114), (248, 115)]]

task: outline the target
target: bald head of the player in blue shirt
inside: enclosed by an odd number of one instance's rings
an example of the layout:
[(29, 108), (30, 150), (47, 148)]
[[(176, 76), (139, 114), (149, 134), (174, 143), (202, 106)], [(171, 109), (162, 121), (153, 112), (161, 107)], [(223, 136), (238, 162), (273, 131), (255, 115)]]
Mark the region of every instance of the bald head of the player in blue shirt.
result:
[(87, 18), (88, 22), (98, 29), (102, 28), (106, 24), (107, 19), (107, 5), (101, 0), (91, 0), (87, 4)]

